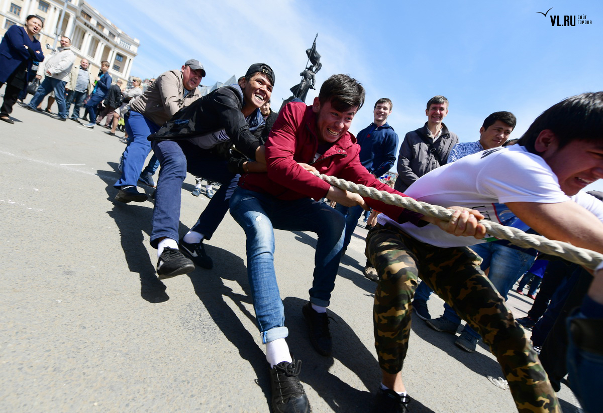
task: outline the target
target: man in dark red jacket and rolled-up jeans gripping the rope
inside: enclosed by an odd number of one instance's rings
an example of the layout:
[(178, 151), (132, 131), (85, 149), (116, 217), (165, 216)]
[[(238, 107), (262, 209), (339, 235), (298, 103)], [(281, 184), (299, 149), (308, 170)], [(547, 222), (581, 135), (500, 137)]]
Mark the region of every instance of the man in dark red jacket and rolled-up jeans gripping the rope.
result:
[[(348, 132), (364, 103), (364, 88), (347, 75), (333, 75), (320, 88), (312, 105), (292, 102), (280, 111), (266, 143), (267, 173), (247, 173), (230, 199), (230, 214), (247, 235), (247, 272), (257, 325), (266, 344), (275, 412), (307, 412), (309, 403), (298, 380), (300, 361), (294, 362), (285, 341), (288, 329), (274, 270), (274, 228), (312, 231), (318, 235), (310, 300), (302, 308), (312, 346), (329, 356), (332, 340), (326, 307), (335, 287), (346, 225), (341, 213), (320, 199), (344, 206), (367, 205), (397, 222), (436, 223), (459, 235), (475, 235), (475, 216), (455, 212), (450, 226), (439, 220), (393, 205), (363, 199), (324, 182), (308, 170), (403, 195), (378, 181), (362, 166), (360, 146)], [(481, 219), (477, 213), (478, 219)], [(485, 232), (485, 230), (483, 231)], [(482, 235), (483, 236), (483, 235)]]

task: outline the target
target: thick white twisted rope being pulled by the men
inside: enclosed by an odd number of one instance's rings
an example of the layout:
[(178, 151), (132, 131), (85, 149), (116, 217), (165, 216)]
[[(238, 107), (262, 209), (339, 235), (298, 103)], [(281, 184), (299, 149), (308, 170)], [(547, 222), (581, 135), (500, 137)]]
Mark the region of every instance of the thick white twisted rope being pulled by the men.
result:
[[(429, 203), (420, 202), (410, 197), (390, 194), (386, 191), (379, 191), (375, 188), (365, 187), (364, 185), (358, 185), (354, 182), (336, 178), (335, 176), (319, 173), (314, 173), (314, 175), (340, 189), (380, 200), (390, 205), (402, 206), (402, 208), (406, 208), (407, 210), (436, 217), (443, 221), (449, 221), (450, 216), (452, 216), (452, 210), (447, 210), (442, 206), (430, 205)], [(488, 234), (502, 240), (511, 241), (511, 243), (522, 248), (534, 248), (540, 252), (560, 256), (561, 258), (567, 259), (567, 261), (584, 265), (584, 267), (589, 269), (595, 269), (599, 262), (603, 262), (602, 254), (589, 249), (575, 247), (572, 244), (564, 243), (562, 241), (549, 240), (540, 235), (526, 234), (520, 229), (500, 225), (497, 222), (481, 220), (480, 223), (484, 224)]]

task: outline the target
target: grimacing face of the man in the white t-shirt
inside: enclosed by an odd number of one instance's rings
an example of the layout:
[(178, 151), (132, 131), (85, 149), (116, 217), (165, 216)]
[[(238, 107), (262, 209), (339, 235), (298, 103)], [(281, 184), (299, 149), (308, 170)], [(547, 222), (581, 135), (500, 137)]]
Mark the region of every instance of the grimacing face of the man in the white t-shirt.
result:
[(568, 196), (603, 178), (603, 143), (573, 140), (560, 149), (555, 134), (545, 129), (536, 138), (534, 149), (557, 175), (561, 190)]

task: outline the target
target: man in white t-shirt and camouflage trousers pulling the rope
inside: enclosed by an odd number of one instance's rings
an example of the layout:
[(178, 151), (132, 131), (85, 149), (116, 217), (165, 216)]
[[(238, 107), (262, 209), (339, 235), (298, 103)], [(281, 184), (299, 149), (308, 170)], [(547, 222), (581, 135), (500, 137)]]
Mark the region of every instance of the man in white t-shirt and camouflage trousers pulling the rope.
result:
[[(574, 96), (541, 114), (516, 146), (435, 169), (405, 193), (435, 205), (467, 206), (504, 225), (529, 226), (545, 237), (603, 253), (603, 207), (579, 193), (603, 177), (601, 130), (603, 92)], [(523, 329), (467, 248), (492, 239), (455, 237), (433, 225), (413, 228), (385, 216), (369, 232), (367, 256), (379, 274), (373, 320), (383, 381), (377, 399), (395, 403), (392, 411), (406, 411), (401, 370), (417, 276), (481, 334), (520, 411), (560, 411)]]

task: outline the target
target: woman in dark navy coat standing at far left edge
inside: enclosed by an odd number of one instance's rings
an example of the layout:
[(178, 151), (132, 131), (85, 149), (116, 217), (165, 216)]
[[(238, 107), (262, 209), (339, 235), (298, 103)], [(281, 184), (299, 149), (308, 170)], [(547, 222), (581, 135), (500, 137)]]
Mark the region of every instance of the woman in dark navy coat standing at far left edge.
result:
[(40, 17), (30, 15), (25, 19), (25, 27), (13, 25), (8, 28), (0, 43), (0, 87), (6, 84), (4, 104), (0, 107), (0, 120), (14, 123), (8, 116), (19, 94), (27, 87), (33, 61), (43, 61), (44, 54), (40, 42), (34, 37), (44, 23)]

